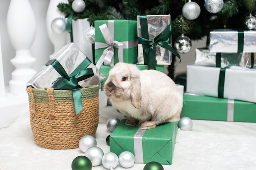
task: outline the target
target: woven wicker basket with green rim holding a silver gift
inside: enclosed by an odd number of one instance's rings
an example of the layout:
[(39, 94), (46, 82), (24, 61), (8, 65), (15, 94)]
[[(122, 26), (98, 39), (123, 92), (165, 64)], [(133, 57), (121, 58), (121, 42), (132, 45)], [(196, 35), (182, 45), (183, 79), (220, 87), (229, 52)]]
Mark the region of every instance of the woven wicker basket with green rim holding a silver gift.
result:
[(84, 135), (95, 136), (99, 124), (99, 86), (81, 88), (83, 110), (76, 115), (71, 90), (27, 87), (34, 141), (49, 149), (79, 147)]

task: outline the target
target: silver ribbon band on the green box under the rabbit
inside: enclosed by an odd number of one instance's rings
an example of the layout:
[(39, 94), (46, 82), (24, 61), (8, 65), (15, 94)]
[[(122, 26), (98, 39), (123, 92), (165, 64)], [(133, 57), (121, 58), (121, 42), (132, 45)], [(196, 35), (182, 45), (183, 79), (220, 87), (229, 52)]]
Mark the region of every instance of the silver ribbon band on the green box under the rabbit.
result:
[(133, 136), (135, 163), (144, 163), (142, 147), (142, 136), (144, 135), (144, 132), (146, 132), (146, 130), (138, 129)]

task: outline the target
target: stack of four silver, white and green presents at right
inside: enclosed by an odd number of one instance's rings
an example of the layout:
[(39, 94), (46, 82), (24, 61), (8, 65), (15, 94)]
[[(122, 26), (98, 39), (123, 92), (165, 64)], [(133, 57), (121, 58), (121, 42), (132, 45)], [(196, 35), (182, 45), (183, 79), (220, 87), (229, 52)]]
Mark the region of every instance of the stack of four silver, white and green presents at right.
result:
[(210, 32), (187, 66), (182, 117), (256, 122), (256, 31)]

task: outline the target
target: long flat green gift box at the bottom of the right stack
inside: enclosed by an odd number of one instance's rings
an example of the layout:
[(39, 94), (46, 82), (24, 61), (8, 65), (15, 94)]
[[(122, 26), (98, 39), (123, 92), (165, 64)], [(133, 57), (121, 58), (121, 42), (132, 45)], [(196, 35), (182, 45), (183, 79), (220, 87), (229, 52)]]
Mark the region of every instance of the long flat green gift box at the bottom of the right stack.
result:
[(256, 103), (185, 94), (181, 116), (200, 120), (256, 122), (255, 110)]

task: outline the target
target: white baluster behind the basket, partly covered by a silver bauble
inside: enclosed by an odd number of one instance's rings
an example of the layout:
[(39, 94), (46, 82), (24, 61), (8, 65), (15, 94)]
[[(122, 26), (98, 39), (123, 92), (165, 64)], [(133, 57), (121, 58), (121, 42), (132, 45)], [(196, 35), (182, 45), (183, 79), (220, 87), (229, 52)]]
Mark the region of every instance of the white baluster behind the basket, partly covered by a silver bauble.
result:
[(54, 53), (49, 56), (50, 59), (65, 44), (67, 44), (66, 43), (66, 39), (67, 39), (67, 36), (68, 36), (67, 31), (65, 31), (62, 34), (56, 34), (52, 31), (52, 28), (51, 28), (52, 21), (55, 18), (65, 17), (65, 15), (63, 13), (61, 13), (61, 11), (58, 10), (57, 5), (60, 2), (68, 3), (68, 0), (50, 0), (49, 7), (48, 7), (48, 10), (47, 10), (47, 14), (46, 14), (46, 28), (47, 28), (48, 36), (49, 36), (50, 41), (54, 45)]

